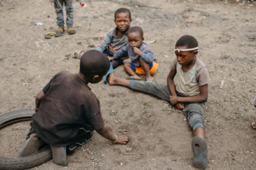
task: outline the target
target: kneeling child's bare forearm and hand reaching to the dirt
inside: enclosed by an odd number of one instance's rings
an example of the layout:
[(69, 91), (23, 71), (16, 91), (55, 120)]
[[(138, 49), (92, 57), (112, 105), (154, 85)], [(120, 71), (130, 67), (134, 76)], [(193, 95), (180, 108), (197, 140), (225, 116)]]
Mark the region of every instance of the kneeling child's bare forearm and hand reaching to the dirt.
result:
[(102, 137), (107, 138), (108, 140), (113, 141), (116, 144), (127, 144), (129, 138), (126, 135), (114, 135), (110, 132), (106, 126), (102, 127), (101, 129), (97, 130), (98, 134)]

